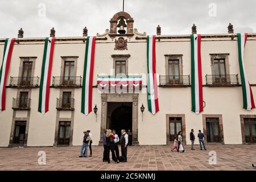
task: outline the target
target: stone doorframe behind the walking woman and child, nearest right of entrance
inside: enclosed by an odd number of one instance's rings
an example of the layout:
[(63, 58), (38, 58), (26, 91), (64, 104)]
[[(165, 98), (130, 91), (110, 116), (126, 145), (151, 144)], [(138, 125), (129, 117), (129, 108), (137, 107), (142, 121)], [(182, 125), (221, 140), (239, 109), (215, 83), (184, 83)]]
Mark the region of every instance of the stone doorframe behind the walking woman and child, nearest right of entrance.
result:
[(185, 114), (166, 114), (166, 144), (169, 146), (172, 142), (170, 141), (170, 118), (181, 118), (181, 129), (183, 144), (186, 142), (186, 127), (185, 127)]

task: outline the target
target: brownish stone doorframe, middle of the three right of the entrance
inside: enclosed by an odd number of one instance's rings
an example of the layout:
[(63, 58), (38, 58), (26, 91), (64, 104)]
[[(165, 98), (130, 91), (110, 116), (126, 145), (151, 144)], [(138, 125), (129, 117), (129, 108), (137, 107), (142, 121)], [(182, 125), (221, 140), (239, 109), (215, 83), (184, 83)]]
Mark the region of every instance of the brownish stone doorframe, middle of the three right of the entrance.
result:
[[(222, 115), (221, 114), (203, 114), (203, 133), (204, 133), (204, 143), (209, 144), (207, 142), (207, 126), (206, 126), (206, 118), (218, 118), (218, 124), (219, 124), (219, 133), (220, 133), (220, 143), (224, 143), (224, 133), (223, 133), (223, 121), (222, 121)], [(216, 144), (215, 142), (210, 142), (212, 144)]]

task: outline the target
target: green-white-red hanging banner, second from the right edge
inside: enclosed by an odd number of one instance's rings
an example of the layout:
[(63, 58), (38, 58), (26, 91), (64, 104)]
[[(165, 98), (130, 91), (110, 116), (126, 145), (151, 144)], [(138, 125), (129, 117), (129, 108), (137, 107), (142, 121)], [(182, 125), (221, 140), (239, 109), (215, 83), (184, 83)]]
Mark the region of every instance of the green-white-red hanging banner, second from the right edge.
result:
[(192, 111), (203, 111), (203, 85), (201, 68), (201, 35), (191, 35), (191, 97)]

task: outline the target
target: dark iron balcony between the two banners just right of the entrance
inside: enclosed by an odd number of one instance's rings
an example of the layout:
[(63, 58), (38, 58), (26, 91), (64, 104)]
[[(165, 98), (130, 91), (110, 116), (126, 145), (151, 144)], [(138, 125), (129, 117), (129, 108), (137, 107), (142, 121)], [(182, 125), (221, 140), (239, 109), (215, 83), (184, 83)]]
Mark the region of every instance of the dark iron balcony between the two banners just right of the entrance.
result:
[(189, 75), (159, 76), (160, 87), (186, 87), (190, 86)]

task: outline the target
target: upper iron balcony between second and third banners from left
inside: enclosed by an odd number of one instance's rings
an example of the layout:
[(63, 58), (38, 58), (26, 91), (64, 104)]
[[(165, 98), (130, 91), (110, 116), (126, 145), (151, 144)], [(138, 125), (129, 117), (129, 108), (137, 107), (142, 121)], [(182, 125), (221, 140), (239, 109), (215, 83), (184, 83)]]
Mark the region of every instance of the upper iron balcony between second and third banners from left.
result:
[(53, 76), (52, 77), (53, 88), (81, 88), (82, 77), (81, 76)]

